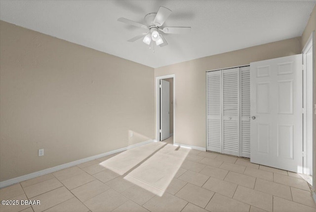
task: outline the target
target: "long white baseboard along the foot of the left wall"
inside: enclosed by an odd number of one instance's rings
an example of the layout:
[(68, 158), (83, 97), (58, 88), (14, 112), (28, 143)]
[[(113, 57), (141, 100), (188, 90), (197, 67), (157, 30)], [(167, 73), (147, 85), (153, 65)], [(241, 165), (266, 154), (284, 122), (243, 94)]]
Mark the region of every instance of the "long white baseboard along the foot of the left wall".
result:
[(125, 150), (129, 150), (129, 149), (132, 149), (132, 148), (135, 148), (135, 147), (139, 147), (139, 146), (151, 143), (151, 142), (155, 142), (155, 140), (148, 140), (148, 141), (140, 142), (140, 143), (133, 144), (133, 145), (130, 145), (130, 146), (127, 146), (127, 147), (123, 147), (123, 148), (120, 148), (120, 149), (117, 149), (117, 150), (108, 151), (108, 152), (105, 152), (105, 153), (102, 153), (102, 154), (97, 154), (97, 155), (94, 155), (94, 156), (91, 156), (91, 157), (86, 157), (86, 158), (83, 158), (83, 159), (79, 159), (79, 160), (72, 161), (72, 162), (69, 162), (69, 163), (64, 163), (64, 164), (61, 164), (61, 165), (58, 165), (58, 166), (55, 166), (55, 167), (51, 167), (51, 168), (48, 168), (48, 169), (40, 170), (38, 172), (33, 172), (33, 173), (30, 173), (30, 174), (27, 174), (27, 175), (23, 175), (23, 176), (20, 176), (20, 177), (17, 177), (17, 178), (12, 178), (12, 179), (9, 179), (9, 180), (6, 180), (6, 181), (2, 181), (2, 182), (0, 182), (0, 188), (6, 187), (8, 185), (12, 185), (12, 184), (15, 184), (15, 183), (18, 183), (18, 182), (27, 181), (27, 180), (30, 180), (32, 178), (36, 178), (36, 177), (39, 177), (39, 176), (42, 176), (42, 175), (46, 175), (46, 174), (49, 174), (49, 173), (52, 173), (52, 172), (56, 172), (56, 171), (59, 171), (59, 170), (65, 169), (65, 168), (76, 166), (76, 165), (78, 165), (80, 163), (88, 162), (90, 160), (95, 160), (97, 158), (105, 157), (105, 156), (108, 156), (110, 154), (114, 154), (114, 153), (117, 153), (117, 152), (120, 152), (120, 151), (125, 151)]

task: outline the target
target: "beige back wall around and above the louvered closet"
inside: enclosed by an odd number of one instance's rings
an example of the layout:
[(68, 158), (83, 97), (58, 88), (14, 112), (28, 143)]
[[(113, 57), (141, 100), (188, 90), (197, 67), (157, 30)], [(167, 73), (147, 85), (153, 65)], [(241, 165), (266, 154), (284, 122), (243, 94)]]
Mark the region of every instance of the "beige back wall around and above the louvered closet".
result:
[(296, 37), (155, 68), (155, 77), (175, 74), (174, 142), (206, 147), (206, 71), (300, 54), (300, 42)]

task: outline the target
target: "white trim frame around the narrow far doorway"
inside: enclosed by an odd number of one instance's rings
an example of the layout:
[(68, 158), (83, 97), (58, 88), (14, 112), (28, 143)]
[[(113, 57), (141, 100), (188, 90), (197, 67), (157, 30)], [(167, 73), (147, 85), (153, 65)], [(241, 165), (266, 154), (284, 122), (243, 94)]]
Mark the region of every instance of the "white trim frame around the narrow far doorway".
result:
[(176, 121), (175, 121), (175, 114), (176, 114), (176, 110), (175, 110), (175, 98), (176, 98), (176, 92), (175, 92), (175, 81), (176, 81), (176, 75), (175, 74), (170, 74), (170, 75), (164, 75), (164, 76), (159, 76), (159, 77), (156, 77), (156, 139), (157, 139), (157, 142), (160, 141), (160, 80), (163, 80), (163, 79), (169, 79), (169, 78), (173, 78), (173, 104), (172, 104), (172, 107), (173, 107), (173, 141), (172, 143), (175, 144), (175, 136), (176, 136), (176, 133), (175, 133), (175, 126), (176, 126)]

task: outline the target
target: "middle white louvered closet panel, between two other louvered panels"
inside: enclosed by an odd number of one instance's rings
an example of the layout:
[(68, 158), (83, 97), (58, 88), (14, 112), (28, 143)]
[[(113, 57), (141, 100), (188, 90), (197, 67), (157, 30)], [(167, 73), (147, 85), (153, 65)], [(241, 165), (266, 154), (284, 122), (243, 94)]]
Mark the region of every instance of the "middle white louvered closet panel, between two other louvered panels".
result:
[(222, 70), (223, 153), (239, 156), (239, 68)]

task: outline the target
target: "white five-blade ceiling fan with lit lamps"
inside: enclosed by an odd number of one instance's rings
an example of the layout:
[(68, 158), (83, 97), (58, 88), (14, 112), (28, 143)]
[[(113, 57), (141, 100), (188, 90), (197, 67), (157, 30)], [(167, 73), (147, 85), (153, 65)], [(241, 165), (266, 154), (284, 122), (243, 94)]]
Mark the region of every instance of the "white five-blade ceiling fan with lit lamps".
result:
[(118, 21), (148, 30), (148, 32), (139, 34), (127, 40), (128, 42), (134, 42), (140, 38), (143, 38), (143, 42), (148, 45), (156, 42), (157, 46), (163, 47), (168, 45), (167, 41), (163, 37), (163, 33), (179, 34), (188, 33), (191, 31), (191, 27), (164, 27), (161, 29), (160, 27), (164, 24), (171, 12), (172, 11), (170, 9), (160, 6), (157, 13), (149, 13), (145, 16), (144, 19), (147, 26), (126, 18), (119, 18)]

